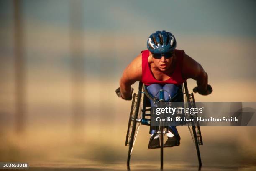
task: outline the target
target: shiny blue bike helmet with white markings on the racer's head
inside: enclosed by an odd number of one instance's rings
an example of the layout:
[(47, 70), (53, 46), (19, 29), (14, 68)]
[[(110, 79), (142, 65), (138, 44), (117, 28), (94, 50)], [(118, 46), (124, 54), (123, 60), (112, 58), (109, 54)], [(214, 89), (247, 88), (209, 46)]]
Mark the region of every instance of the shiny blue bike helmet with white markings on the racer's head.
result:
[(156, 31), (148, 37), (147, 47), (151, 53), (163, 54), (176, 48), (176, 40), (170, 32)]

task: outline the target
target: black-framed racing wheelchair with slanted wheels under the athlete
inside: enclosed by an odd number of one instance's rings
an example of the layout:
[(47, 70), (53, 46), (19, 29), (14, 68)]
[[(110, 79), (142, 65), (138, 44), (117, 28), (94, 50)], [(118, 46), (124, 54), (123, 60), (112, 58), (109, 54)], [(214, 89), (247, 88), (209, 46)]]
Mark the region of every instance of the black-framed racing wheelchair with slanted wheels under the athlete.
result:
[[(161, 90), (160, 90), (161, 91)], [(188, 107), (195, 107), (195, 99), (194, 94), (190, 93), (187, 88), (187, 82), (184, 82), (180, 86), (180, 94), (183, 96), (184, 102), (187, 102), (186, 104)], [(151, 103), (150, 99), (153, 99), (151, 95), (147, 92), (145, 85), (142, 82), (139, 82), (138, 86), (138, 94), (133, 94), (132, 104), (131, 104), (131, 112), (129, 116), (128, 121), (128, 129), (125, 139), (125, 146), (129, 146), (128, 149), (128, 157), (127, 157), (127, 167), (130, 168), (130, 159), (131, 154), (133, 151), (133, 146), (136, 141), (136, 137), (138, 135), (138, 130), (140, 125), (147, 125), (151, 126)], [(160, 94), (160, 100), (161, 101), (161, 94)], [(171, 98), (172, 101), (172, 98)], [(161, 169), (163, 169), (163, 155), (164, 155), (164, 134), (167, 133), (168, 127), (165, 128), (164, 126), (161, 126), (161, 123), (158, 127), (158, 133), (160, 135), (160, 157), (161, 157)], [(197, 151), (197, 157), (199, 162), (199, 168), (202, 166), (200, 151), (199, 151), (199, 145), (203, 145), (202, 142), (202, 135), (200, 131), (199, 124), (188, 124), (188, 128), (190, 131), (190, 134), (192, 136), (192, 140), (195, 143), (196, 151)], [(165, 131), (165, 129), (167, 131)]]

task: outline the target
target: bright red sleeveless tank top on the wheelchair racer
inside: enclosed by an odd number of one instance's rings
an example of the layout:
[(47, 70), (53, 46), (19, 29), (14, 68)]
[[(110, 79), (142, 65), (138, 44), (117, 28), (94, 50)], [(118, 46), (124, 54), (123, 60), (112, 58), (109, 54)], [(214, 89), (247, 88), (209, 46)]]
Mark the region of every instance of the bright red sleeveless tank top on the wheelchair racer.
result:
[(151, 67), (148, 64), (148, 57), (149, 57), (149, 50), (143, 50), (142, 53), (142, 82), (145, 85), (150, 84), (175, 84), (181, 85), (185, 80), (182, 78), (182, 62), (183, 62), (183, 55), (184, 50), (174, 50), (174, 53), (177, 57), (177, 63), (175, 65), (174, 72), (172, 73), (171, 77), (165, 81), (157, 80), (152, 71)]

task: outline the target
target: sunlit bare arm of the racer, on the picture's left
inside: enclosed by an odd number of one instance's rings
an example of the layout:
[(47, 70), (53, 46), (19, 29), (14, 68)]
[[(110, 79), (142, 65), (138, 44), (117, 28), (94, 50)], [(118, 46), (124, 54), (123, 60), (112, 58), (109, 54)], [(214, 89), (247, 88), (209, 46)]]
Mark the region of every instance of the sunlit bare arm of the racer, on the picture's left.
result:
[(141, 80), (141, 54), (138, 55), (124, 70), (123, 76), (120, 79), (120, 91), (123, 99), (131, 97), (131, 85), (136, 81)]

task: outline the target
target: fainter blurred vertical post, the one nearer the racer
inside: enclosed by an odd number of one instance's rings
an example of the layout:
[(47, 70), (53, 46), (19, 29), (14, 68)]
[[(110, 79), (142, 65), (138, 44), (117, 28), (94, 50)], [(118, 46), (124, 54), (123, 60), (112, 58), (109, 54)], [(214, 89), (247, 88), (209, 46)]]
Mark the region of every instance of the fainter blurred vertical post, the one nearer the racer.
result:
[[(72, 77), (72, 124), (73, 134), (79, 136), (84, 124), (85, 92), (84, 92), (84, 54), (82, 53), (82, 3), (70, 1), (70, 50), (71, 50), (71, 77)], [(82, 132), (80, 132), (82, 133)], [(79, 138), (79, 137), (77, 137)]]

